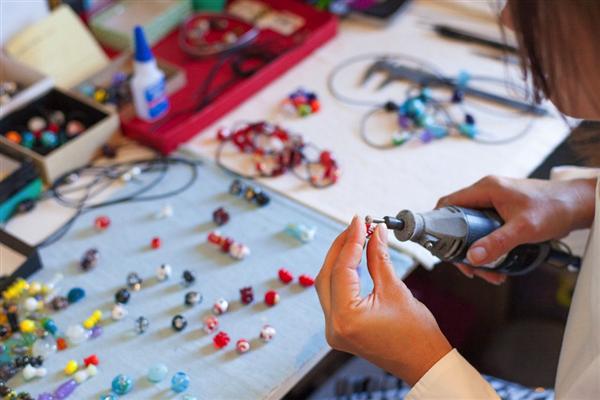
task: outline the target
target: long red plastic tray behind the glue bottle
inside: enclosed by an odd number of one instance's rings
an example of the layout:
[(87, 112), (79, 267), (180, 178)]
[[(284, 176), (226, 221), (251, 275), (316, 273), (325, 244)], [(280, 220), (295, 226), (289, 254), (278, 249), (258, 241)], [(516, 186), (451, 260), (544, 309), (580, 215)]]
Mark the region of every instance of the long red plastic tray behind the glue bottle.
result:
[[(164, 121), (147, 123), (138, 118), (122, 119), (123, 132), (163, 154), (169, 154), (177, 147), (196, 136), (204, 128), (233, 110), (264, 86), (275, 80), (296, 65), (311, 52), (323, 45), (337, 33), (335, 16), (315, 10), (295, 0), (262, 0), (275, 10), (285, 10), (304, 18), (302, 28), (290, 37), (282, 36), (269, 29), (262, 30), (256, 43), (277, 43), (277, 48), (285, 49), (280, 56), (264, 65), (249, 78), (239, 80), (219, 97), (200, 110), (193, 110), (198, 101), (198, 92), (206, 75), (217, 62), (216, 58), (194, 59), (180, 50), (179, 30), (172, 32), (154, 46), (157, 57), (166, 59), (182, 67), (187, 76), (187, 85), (170, 97), (171, 109)], [(225, 82), (233, 72), (227, 66), (221, 68), (214, 85)]]

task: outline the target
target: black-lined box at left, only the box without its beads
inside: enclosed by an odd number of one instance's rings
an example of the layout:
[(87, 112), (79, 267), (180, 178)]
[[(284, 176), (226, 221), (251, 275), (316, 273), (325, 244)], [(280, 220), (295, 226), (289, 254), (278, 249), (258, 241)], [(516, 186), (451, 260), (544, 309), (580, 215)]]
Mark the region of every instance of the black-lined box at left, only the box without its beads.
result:
[[(66, 121), (69, 118), (81, 121), (85, 130), (67, 138), (65, 143), (55, 148), (36, 146), (28, 149), (4, 136), (9, 131), (22, 133), (28, 130), (27, 122), (30, 118), (44, 117), (44, 112), (53, 110), (63, 111)], [(118, 125), (118, 117), (106, 107), (60, 89), (52, 89), (0, 120), (0, 146), (32, 159), (44, 180), (51, 183), (61, 174), (89, 162), (94, 152), (117, 130)]]

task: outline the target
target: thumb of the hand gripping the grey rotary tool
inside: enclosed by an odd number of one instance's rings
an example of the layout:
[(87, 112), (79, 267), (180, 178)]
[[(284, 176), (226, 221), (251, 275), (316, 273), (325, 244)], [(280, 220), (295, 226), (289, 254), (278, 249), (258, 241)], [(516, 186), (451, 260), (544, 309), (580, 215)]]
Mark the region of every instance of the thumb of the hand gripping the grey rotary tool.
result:
[(473, 243), (467, 252), (467, 259), (474, 266), (487, 264), (496, 261), (522, 243), (525, 243), (525, 240), (521, 238), (519, 224), (509, 221)]

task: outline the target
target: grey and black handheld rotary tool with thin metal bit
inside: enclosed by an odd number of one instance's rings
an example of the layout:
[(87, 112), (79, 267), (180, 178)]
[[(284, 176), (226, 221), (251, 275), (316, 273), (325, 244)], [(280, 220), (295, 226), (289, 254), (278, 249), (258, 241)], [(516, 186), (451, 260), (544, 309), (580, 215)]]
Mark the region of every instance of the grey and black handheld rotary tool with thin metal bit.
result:
[[(385, 224), (401, 242), (412, 241), (442, 261), (470, 265), (469, 247), (500, 228), (504, 221), (494, 210), (472, 210), (448, 206), (425, 213), (403, 210), (396, 217), (368, 218)], [(477, 268), (506, 275), (523, 275), (540, 265), (579, 269), (581, 259), (561, 249), (556, 242), (528, 243), (515, 247), (498, 260)]]

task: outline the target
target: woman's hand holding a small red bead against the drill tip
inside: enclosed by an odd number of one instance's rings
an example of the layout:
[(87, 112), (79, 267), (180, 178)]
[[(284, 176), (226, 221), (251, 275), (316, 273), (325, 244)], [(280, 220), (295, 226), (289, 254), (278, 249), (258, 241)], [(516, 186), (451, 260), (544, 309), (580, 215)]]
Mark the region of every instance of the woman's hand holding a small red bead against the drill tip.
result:
[(357, 217), (333, 242), (316, 279), (331, 347), (359, 355), (414, 385), (452, 347), (431, 312), (396, 276), (379, 225), (367, 245), (373, 291), (360, 297), (366, 229)]

